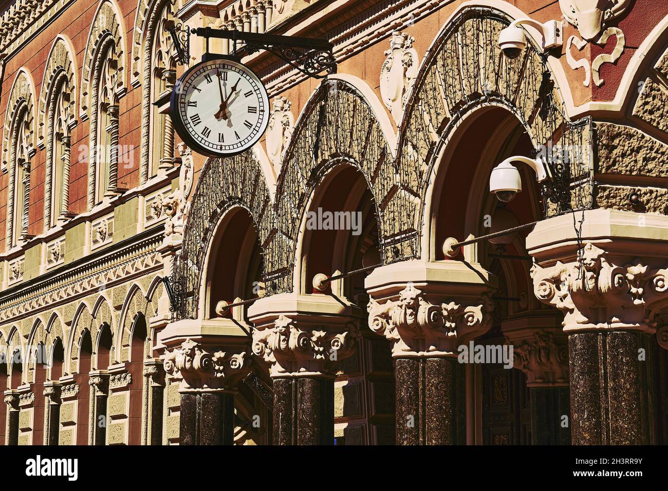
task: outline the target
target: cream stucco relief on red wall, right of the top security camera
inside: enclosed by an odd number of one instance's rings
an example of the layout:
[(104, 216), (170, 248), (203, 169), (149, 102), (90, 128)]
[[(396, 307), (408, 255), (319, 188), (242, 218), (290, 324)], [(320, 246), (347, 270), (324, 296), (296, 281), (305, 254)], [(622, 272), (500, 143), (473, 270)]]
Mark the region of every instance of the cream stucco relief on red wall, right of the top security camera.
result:
[[(600, 71), (603, 63), (615, 63), (624, 53), (625, 37), (618, 27), (607, 27), (606, 23), (617, 19), (625, 14), (631, 7), (631, 0), (559, 0), (559, 5), (564, 17), (571, 25), (577, 27), (583, 39), (570, 36), (566, 43), (566, 60), (572, 69), (584, 68), (584, 86), (589, 87), (590, 78), (593, 75), (597, 87), (603, 85)], [(574, 59), (571, 51), (572, 45), (578, 50), (587, 43), (596, 43), (605, 46), (611, 36), (617, 37), (617, 43), (612, 53), (603, 53), (589, 63), (585, 59)]]

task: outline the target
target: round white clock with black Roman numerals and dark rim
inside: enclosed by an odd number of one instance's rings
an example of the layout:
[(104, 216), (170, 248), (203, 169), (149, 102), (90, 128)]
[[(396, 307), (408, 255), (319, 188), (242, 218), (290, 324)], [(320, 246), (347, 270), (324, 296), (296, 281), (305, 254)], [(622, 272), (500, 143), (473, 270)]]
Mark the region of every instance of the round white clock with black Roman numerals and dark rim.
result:
[(250, 69), (229, 59), (190, 68), (176, 83), (170, 112), (174, 128), (196, 152), (230, 156), (253, 146), (269, 122), (269, 97)]

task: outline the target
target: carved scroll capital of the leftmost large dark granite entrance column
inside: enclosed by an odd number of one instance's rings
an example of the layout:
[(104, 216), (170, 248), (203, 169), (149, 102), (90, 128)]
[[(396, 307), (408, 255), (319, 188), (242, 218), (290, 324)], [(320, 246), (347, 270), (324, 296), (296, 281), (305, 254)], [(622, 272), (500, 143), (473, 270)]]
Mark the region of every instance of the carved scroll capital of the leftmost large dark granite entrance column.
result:
[(245, 351), (210, 353), (196, 341), (186, 339), (164, 355), (164, 370), (179, 380), (180, 392), (236, 391), (236, 384), (251, 371)]

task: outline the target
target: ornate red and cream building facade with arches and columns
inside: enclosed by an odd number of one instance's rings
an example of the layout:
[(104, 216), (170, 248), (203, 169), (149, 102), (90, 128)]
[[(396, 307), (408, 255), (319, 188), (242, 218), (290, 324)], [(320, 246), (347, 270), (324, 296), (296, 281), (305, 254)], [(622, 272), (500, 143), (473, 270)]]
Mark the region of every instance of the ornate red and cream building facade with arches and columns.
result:
[[(205, 158), (179, 24), (337, 72)], [(8, 0), (0, 78), (0, 444), (668, 443), (668, 5)]]

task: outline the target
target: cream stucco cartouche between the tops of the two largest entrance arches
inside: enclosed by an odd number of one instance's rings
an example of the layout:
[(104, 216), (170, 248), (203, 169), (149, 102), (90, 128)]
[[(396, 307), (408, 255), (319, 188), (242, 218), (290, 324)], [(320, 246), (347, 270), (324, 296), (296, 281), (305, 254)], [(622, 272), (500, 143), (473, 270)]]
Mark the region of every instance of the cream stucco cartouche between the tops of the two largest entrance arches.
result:
[(380, 93), (383, 104), (389, 109), (395, 123), (403, 117), (408, 94), (418, 76), (418, 52), (413, 48), (415, 38), (401, 32), (393, 32), (385, 61), (380, 69)]

